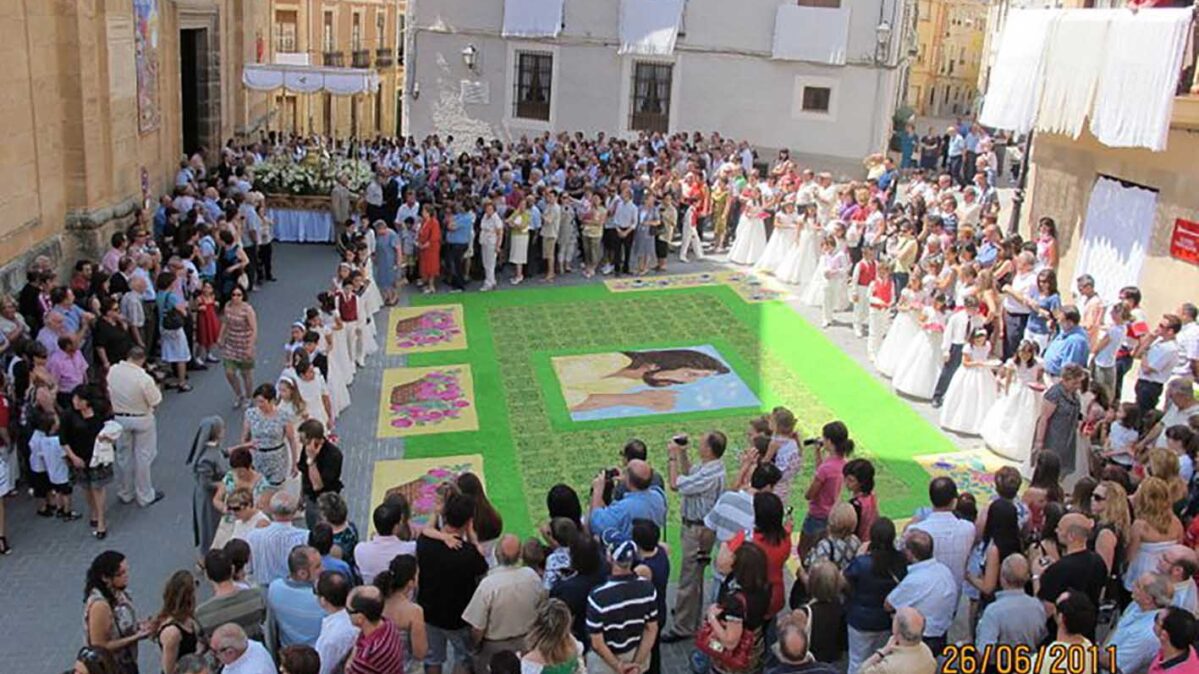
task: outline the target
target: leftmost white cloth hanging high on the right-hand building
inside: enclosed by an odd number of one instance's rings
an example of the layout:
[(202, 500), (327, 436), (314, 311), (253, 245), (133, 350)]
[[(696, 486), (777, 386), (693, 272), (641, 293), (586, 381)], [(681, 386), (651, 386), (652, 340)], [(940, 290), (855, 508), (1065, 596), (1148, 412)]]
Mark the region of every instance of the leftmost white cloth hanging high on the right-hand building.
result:
[(1049, 29), (1059, 10), (1012, 10), (999, 41), (978, 121), (1018, 133), (1032, 130), (1041, 100), (1041, 71)]

